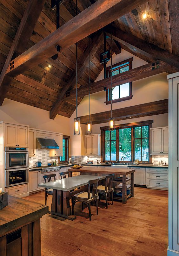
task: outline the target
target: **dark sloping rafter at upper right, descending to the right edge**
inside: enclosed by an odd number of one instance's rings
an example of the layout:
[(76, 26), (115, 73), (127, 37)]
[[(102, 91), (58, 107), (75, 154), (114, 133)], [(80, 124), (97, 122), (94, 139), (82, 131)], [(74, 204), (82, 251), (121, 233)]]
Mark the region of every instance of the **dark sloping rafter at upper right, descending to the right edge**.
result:
[(155, 58), (156, 60), (162, 60), (173, 67), (179, 70), (179, 56), (169, 53), (153, 44), (150, 44), (142, 39), (133, 36), (132, 34), (128, 34), (116, 27), (111, 27), (111, 25), (105, 28), (106, 34), (110, 36), (111, 31), (113, 34), (113, 38), (119, 43), (127, 46), (135, 48), (136, 51), (146, 55), (149, 58)]

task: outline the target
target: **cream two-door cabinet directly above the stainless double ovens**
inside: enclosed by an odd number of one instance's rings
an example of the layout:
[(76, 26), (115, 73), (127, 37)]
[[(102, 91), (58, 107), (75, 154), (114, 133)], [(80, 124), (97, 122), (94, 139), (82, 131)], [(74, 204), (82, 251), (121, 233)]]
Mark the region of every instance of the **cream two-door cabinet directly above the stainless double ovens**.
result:
[(28, 147), (28, 127), (16, 124), (5, 124), (6, 147)]

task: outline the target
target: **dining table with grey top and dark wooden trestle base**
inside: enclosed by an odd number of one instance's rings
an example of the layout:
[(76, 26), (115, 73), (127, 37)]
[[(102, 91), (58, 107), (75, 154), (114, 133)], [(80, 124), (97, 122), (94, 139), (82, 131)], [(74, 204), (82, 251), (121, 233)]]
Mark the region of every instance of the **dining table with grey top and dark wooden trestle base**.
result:
[[(97, 176), (99, 181), (105, 179), (105, 176)], [(53, 189), (50, 214), (57, 215), (66, 219), (74, 220), (75, 215), (71, 215), (70, 199), (81, 191), (88, 191), (88, 181), (94, 180), (93, 175), (78, 175), (69, 178), (49, 181), (38, 184), (39, 187)], [(76, 189), (78, 188), (78, 189)], [(74, 190), (76, 189), (76, 190)]]

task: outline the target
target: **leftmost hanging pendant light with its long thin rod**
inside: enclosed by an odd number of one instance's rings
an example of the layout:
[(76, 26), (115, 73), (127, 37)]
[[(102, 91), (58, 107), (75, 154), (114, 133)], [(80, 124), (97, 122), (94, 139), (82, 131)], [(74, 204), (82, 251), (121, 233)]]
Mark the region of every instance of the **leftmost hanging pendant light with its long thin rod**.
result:
[[(76, 0), (76, 15), (77, 15), (77, 0)], [(77, 102), (77, 89), (78, 89), (78, 78), (77, 78), (77, 43), (76, 43), (76, 118), (74, 118), (74, 134), (80, 134), (80, 118), (78, 118), (77, 115), (77, 106), (78, 106), (78, 102)]]

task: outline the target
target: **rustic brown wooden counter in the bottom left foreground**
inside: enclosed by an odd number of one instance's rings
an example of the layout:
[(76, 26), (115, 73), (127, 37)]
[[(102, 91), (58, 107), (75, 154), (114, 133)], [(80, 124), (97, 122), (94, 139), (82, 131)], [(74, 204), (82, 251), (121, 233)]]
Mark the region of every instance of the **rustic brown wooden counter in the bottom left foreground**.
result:
[(48, 206), (8, 196), (0, 210), (0, 255), (41, 255), (40, 218)]

